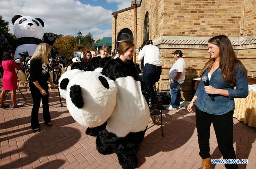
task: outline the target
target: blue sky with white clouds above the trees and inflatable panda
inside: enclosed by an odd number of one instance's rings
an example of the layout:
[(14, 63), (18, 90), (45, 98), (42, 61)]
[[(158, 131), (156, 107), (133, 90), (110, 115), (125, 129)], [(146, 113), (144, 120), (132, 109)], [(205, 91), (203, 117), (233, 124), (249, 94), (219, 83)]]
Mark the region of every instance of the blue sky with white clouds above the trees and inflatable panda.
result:
[(44, 32), (77, 36), (93, 34), (93, 39), (111, 37), (111, 13), (131, 6), (132, 0), (0, 0), (0, 15), (9, 22), (15, 15), (41, 18)]

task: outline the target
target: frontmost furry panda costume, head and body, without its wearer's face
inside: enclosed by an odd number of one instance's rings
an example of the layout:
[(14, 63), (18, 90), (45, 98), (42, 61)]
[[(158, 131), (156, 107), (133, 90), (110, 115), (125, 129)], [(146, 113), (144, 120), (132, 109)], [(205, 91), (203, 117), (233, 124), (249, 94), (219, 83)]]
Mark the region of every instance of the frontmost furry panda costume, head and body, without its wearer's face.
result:
[(107, 121), (96, 138), (98, 152), (111, 154), (115, 148), (122, 168), (136, 168), (150, 114), (134, 63), (110, 59), (101, 73), (79, 73), (66, 86), (67, 108), (78, 123), (97, 127)]

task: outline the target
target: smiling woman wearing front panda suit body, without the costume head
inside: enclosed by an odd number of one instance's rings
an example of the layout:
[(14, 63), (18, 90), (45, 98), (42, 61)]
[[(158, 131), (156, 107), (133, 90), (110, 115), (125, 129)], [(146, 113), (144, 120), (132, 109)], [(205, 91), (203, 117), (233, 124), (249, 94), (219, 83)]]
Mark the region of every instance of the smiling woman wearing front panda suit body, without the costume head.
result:
[(109, 60), (101, 72), (115, 81), (118, 92), (117, 105), (108, 119), (106, 129), (100, 131), (96, 138), (96, 148), (101, 154), (109, 154), (115, 147), (119, 163), (124, 169), (137, 167), (136, 153), (143, 141), (149, 119), (139, 74), (131, 61), (133, 53), (134, 43), (130, 40), (122, 41), (119, 44), (119, 58)]

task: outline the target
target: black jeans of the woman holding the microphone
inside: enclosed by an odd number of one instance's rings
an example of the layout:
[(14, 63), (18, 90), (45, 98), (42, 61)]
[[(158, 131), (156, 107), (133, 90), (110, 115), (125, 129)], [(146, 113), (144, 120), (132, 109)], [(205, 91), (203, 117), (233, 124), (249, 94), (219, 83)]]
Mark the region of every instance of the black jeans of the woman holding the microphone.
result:
[[(233, 147), (233, 112), (223, 115), (213, 115), (202, 112), (196, 107), (197, 136), (199, 144), (199, 155), (202, 159), (210, 157), (210, 126), (216, 134), (219, 150), (224, 159), (236, 159)], [(227, 169), (238, 168), (237, 164), (225, 164)]]

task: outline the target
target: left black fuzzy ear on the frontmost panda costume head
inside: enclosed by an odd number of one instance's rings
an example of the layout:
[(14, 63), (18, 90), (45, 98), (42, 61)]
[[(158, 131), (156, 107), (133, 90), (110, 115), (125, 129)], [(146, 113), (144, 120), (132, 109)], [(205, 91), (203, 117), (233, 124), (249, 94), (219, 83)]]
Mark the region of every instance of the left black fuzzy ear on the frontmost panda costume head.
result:
[(70, 98), (77, 108), (81, 109), (83, 107), (82, 90), (79, 85), (73, 85), (70, 87)]

